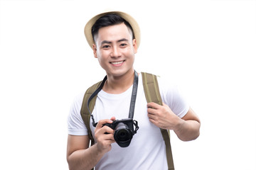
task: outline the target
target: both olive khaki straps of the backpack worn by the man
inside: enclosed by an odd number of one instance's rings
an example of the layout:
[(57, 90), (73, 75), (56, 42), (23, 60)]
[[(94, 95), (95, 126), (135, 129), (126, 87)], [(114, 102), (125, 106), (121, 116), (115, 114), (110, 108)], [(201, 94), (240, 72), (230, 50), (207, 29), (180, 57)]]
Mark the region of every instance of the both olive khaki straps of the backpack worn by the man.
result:
[[(146, 96), (146, 101), (147, 103), (154, 102), (158, 103), (159, 105), (163, 105), (161, 101), (161, 96), (159, 92), (159, 85), (157, 82), (157, 77), (154, 74), (149, 74), (142, 72), (142, 81), (143, 81), (143, 86), (144, 86), (144, 94)], [(81, 108), (81, 116), (82, 120), (85, 123), (85, 126), (88, 130), (88, 137), (91, 140), (91, 145), (95, 144), (95, 140), (92, 137), (92, 131), (90, 130), (90, 113), (87, 108), (87, 101), (88, 98), (95, 92), (95, 90), (100, 86), (102, 81), (99, 81), (97, 84), (92, 85), (87, 91), (85, 92), (85, 96), (82, 101), (82, 108)], [(89, 109), (92, 112), (94, 106), (95, 106), (95, 101), (96, 101), (97, 96), (92, 98), (89, 104)], [(169, 130), (164, 130), (161, 129), (161, 134), (164, 138), (164, 142), (166, 145), (166, 157), (167, 157), (167, 163), (168, 163), (168, 169), (169, 170), (174, 170), (174, 161), (171, 153), (171, 143), (170, 143), (170, 133)]]

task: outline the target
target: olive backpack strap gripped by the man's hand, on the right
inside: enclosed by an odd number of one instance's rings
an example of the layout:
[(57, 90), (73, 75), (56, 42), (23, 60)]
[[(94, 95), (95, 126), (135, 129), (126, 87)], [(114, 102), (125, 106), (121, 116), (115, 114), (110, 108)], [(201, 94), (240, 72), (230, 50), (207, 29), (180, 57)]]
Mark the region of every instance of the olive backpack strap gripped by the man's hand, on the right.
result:
[[(159, 92), (159, 84), (157, 81), (157, 77), (154, 74), (142, 72), (142, 80), (143, 80), (144, 94), (146, 96), (146, 101), (148, 103), (154, 102), (159, 105), (163, 105), (161, 101), (161, 95)], [(164, 138), (164, 143), (166, 145), (166, 158), (168, 163), (168, 169), (174, 170), (174, 160), (171, 153), (170, 132), (169, 130), (165, 130), (161, 128), (160, 130)]]

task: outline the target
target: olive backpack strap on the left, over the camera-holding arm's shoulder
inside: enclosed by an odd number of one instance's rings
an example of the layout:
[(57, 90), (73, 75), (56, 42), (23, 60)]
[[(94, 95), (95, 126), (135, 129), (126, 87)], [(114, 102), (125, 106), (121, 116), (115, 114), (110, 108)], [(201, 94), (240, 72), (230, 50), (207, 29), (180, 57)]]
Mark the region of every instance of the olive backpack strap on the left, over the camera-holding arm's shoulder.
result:
[[(95, 92), (96, 89), (100, 86), (101, 83), (102, 81), (99, 81), (97, 82), (97, 84), (94, 84), (89, 89), (87, 89), (87, 91), (85, 92), (85, 96), (82, 100), (82, 108), (80, 110), (82, 120), (84, 121), (85, 126), (88, 130), (88, 137), (91, 140), (91, 146), (95, 144), (95, 140), (92, 137), (92, 130), (90, 129), (90, 113), (87, 109), (87, 101), (90, 98), (90, 96), (93, 94), (93, 92)], [(92, 100), (90, 101), (90, 104), (89, 104), (90, 111), (92, 111), (95, 106), (96, 98), (97, 98), (97, 95), (94, 98), (92, 98)]]

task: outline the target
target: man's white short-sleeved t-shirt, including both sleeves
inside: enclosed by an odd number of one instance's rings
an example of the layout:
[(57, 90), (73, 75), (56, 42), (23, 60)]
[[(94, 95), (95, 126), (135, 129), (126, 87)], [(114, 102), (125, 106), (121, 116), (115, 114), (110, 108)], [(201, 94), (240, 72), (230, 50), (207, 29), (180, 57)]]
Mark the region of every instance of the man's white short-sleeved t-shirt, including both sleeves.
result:
[[(186, 115), (189, 106), (176, 86), (164, 84), (159, 77), (158, 82), (162, 101), (178, 117), (182, 118)], [(68, 117), (68, 133), (70, 135), (87, 135), (87, 128), (80, 115), (83, 96), (84, 93), (75, 98), (70, 109)], [(122, 94), (107, 94), (105, 91), (100, 91), (92, 111), (95, 122), (101, 119), (110, 119), (112, 116), (118, 120), (128, 118), (131, 96), (132, 86)], [(166, 146), (160, 129), (151, 123), (147, 116), (146, 97), (141, 74), (139, 74), (134, 120), (138, 121), (139, 130), (133, 136), (129, 147), (119, 147), (117, 143), (113, 143), (110, 152), (107, 152), (100, 159), (95, 169), (168, 169)], [(90, 120), (90, 128), (94, 137), (95, 128), (92, 126), (92, 120)]]

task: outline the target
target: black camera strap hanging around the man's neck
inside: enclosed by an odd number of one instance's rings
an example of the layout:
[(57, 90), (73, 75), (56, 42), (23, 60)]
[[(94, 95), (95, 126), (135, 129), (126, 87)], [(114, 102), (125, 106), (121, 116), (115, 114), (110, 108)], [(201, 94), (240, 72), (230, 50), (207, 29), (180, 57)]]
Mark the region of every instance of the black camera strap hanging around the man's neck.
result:
[[(136, 102), (136, 97), (137, 97), (137, 89), (138, 89), (138, 73), (134, 70), (134, 82), (133, 82), (133, 87), (132, 87), (132, 98), (131, 98), (131, 103), (130, 103), (130, 108), (129, 108), (129, 118), (133, 118), (134, 116), (134, 108), (135, 108), (135, 102)], [(95, 119), (93, 118), (92, 113), (90, 112), (89, 109), (89, 104), (92, 98), (94, 98), (103, 88), (105, 81), (107, 81), (107, 76), (104, 77), (102, 80), (102, 83), (100, 86), (93, 92), (93, 94), (90, 96), (90, 98), (87, 101), (87, 108), (88, 111), (92, 117), (92, 125), (96, 127), (97, 123), (95, 123)]]

